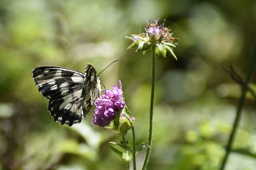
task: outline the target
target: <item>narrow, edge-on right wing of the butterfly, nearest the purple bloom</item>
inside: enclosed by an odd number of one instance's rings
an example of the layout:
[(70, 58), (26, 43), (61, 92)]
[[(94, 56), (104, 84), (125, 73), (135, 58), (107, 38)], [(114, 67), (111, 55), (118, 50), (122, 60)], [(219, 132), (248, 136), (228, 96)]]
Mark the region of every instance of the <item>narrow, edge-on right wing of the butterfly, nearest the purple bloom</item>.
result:
[(98, 78), (95, 68), (88, 64), (84, 70), (84, 88), (81, 94), (83, 116), (90, 111), (95, 100), (100, 97), (100, 91), (100, 78)]

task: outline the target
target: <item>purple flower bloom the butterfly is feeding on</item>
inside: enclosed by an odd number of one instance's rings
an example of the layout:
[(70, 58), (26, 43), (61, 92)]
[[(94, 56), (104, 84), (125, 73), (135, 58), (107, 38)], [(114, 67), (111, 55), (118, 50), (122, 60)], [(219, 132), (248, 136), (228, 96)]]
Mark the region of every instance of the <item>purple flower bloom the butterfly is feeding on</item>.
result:
[(99, 125), (100, 127), (109, 125), (116, 115), (124, 109), (125, 102), (123, 101), (122, 83), (120, 80), (119, 84), (120, 88), (113, 86), (113, 90), (106, 90), (105, 95), (101, 95), (94, 103), (96, 109), (93, 115), (93, 125)]

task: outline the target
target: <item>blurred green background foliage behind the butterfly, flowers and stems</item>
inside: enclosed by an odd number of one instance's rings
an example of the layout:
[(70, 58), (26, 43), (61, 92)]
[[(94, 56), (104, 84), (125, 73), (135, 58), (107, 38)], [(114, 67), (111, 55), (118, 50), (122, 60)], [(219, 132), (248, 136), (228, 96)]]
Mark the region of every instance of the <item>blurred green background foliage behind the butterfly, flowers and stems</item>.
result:
[[(146, 20), (166, 19), (174, 53), (157, 57), (154, 140), (148, 170), (218, 170), (235, 119), (256, 37), (255, 0), (1, 0), (0, 170), (121, 170), (108, 142), (121, 136), (92, 125), (95, 107), (73, 127), (54, 123), (32, 79), (37, 66), (84, 72), (87, 63), (106, 88), (122, 81), (136, 117), (137, 143), (148, 136), (151, 56), (127, 50), (124, 38)], [(228, 68), (229, 69), (229, 68)], [(254, 74), (251, 86), (256, 81)], [(255, 99), (248, 95), (226, 170), (256, 167)], [(131, 134), (127, 137), (131, 144)], [(145, 151), (137, 154), (138, 169)]]

